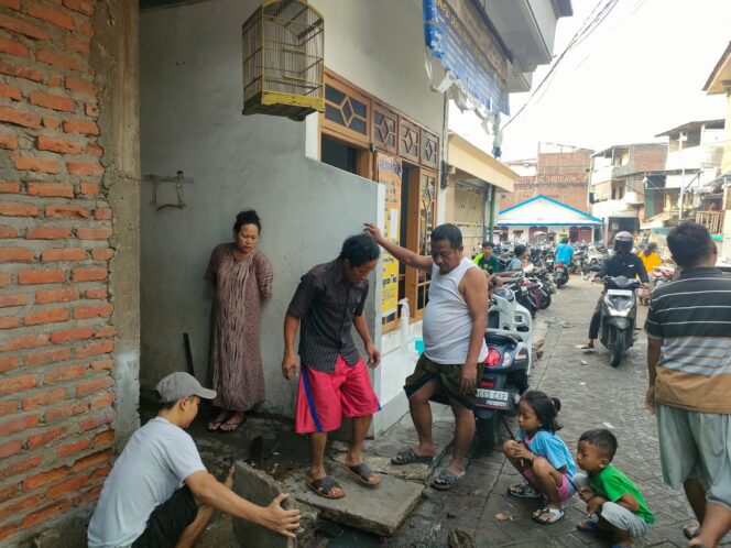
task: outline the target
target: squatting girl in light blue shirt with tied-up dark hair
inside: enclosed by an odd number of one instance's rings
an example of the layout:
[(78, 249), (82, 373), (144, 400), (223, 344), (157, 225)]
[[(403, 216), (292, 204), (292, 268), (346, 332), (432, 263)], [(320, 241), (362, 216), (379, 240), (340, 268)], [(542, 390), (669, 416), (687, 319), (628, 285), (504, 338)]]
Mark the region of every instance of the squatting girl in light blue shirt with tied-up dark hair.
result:
[(542, 525), (564, 517), (563, 502), (576, 493), (571, 478), (576, 464), (566, 442), (556, 435), (561, 427), (558, 412), (561, 403), (539, 391), (523, 394), (519, 404), (517, 441), (503, 443), (503, 452), (525, 481), (511, 485), (508, 494), (519, 498), (542, 498), (546, 504), (533, 514)]

